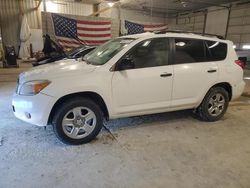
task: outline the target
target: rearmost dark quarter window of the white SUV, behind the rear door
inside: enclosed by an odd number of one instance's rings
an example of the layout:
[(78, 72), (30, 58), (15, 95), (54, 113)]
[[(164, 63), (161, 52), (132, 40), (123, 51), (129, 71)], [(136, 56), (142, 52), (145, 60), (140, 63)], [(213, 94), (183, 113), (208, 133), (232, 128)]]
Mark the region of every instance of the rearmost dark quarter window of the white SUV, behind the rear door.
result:
[(208, 48), (208, 61), (221, 61), (227, 56), (227, 44), (218, 41), (205, 41)]

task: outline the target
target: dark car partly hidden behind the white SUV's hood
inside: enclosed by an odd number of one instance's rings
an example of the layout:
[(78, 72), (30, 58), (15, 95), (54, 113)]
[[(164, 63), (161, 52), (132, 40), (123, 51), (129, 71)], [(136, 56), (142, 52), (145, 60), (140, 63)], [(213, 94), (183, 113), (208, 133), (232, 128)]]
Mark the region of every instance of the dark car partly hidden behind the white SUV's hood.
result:
[(89, 52), (91, 52), (95, 48), (96, 48), (96, 46), (80, 46), (80, 47), (77, 47), (77, 48), (70, 50), (69, 52), (54, 53), (50, 57), (45, 57), (43, 59), (38, 60), (37, 62), (34, 62), (33, 66), (52, 63), (52, 62), (59, 61), (59, 60), (64, 59), (64, 58), (77, 59), (80, 57), (84, 57), (86, 54), (88, 54)]

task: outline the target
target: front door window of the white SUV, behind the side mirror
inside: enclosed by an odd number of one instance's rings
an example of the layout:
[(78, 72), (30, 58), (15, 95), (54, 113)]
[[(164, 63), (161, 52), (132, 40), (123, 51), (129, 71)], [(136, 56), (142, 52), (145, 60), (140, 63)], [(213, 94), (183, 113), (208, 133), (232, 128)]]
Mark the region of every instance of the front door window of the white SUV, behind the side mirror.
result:
[(168, 65), (169, 40), (155, 38), (142, 41), (132, 48), (126, 57), (134, 63), (134, 68)]

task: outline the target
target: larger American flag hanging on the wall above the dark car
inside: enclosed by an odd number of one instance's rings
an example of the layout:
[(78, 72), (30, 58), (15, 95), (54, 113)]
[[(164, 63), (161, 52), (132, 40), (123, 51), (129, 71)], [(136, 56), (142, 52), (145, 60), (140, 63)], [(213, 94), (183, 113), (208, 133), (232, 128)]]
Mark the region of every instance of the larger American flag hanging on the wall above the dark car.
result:
[(100, 45), (111, 39), (111, 22), (84, 21), (51, 14), (58, 43), (64, 48)]

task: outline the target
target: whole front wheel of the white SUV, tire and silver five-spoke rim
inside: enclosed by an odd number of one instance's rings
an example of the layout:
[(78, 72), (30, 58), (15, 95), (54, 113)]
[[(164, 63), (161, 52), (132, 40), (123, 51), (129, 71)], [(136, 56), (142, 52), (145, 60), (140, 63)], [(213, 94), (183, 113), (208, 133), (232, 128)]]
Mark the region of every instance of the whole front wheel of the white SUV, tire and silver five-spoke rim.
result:
[(53, 119), (56, 136), (66, 144), (78, 145), (90, 142), (100, 132), (103, 114), (91, 99), (77, 98), (66, 101)]

